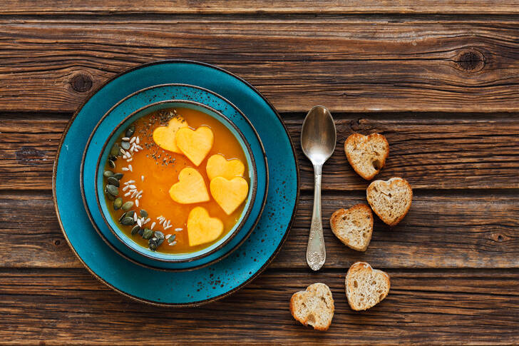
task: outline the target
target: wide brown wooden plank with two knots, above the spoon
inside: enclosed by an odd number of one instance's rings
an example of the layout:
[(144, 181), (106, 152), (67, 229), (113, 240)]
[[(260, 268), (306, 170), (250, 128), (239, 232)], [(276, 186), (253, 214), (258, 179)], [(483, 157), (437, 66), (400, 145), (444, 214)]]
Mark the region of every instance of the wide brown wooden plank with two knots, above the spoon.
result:
[(73, 111), (89, 88), (164, 58), (228, 68), (279, 111), (519, 110), (515, 17), (6, 17), (0, 26), (0, 110)]

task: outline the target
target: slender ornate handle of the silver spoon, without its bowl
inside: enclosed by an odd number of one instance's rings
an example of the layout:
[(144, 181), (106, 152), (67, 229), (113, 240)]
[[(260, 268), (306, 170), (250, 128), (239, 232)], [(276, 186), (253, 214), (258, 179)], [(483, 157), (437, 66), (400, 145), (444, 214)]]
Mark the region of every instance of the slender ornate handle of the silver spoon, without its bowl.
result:
[(307, 246), (307, 263), (312, 270), (321, 269), (327, 257), (322, 234), (321, 177), (322, 165), (314, 165), (314, 211)]

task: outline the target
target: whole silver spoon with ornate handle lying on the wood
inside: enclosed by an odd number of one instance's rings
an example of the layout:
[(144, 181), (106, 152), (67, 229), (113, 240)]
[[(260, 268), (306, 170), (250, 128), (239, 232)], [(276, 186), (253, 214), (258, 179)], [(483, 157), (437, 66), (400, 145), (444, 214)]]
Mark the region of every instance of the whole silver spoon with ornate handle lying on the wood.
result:
[(307, 263), (312, 270), (321, 269), (327, 257), (322, 234), (321, 177), (322, 166), (334, 153), (335, 142), (332, 114), (323, 106), (315, 106), (304, 118), (301, 131), (303, 153), (314, 165), (314, 211), (307, 246)]

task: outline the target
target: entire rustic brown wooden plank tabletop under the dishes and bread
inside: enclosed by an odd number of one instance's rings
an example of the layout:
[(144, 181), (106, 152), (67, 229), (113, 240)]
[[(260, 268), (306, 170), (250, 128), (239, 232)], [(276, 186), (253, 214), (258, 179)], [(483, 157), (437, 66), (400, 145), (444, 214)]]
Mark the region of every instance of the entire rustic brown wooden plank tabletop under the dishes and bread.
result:
[[(0, 2), (1, 344), (519, 343), (519, 1)], [(143, 305), (99, 283), (68, 248), (52, 203), (73, 111), (107, 78), (164, 58), (215, 63), (257, 86), (301, 168), (297, 218), (274, 263), (192, 309)], [(324, 167), (319, 273), (304, 260), (312, 169), (299, 146), (315, 104), (338, 130)], [(379, 178), (403, 176), (414, 193), (397, 227), (376, 221), (366, 253), (327, 224), (365, 200), (342, 149), (353, 132), (383, 133), (391, 153)], [(356, 260), (391, 275), (389, 296), (366, 312), (344, 295)], [(317, 281), (336, 305), (324, 333), (288, 309)]]

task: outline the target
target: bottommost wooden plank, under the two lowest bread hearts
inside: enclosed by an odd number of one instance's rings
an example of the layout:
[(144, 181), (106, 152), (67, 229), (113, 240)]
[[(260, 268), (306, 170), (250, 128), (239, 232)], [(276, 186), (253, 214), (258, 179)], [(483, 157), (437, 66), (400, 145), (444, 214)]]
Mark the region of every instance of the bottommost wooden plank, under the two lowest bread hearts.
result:
[[(388, 270), (389, 296), (353, 312), (344, 273), (268, 270), (220, 302), (192, 309), (151, 307), (109, 290), (85, 270), (1, 270), (1, 342), (27, 345), (225, 344), (505, 345), (519, 342), (517, 270)], [(315, 281), (335, 300), (332, 327), (295, 322), (292, 293)], [(424, 339), (426, 337), (426, 339)]]

